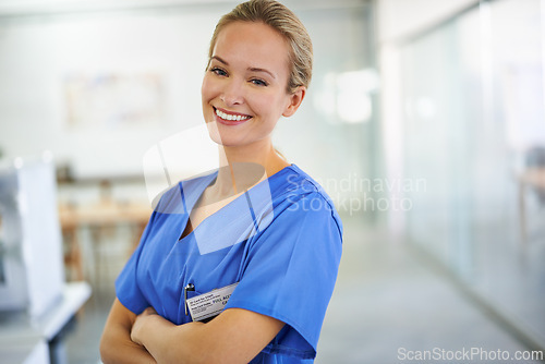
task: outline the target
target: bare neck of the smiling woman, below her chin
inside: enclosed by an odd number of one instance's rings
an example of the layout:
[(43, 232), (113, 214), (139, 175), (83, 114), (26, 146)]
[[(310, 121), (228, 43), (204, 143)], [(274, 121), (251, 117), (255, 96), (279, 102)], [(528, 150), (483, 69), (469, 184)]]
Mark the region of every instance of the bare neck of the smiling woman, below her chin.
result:
[(245, 146), (220, 145), (219, 162), (214, 190), (223, 196), (242, 193), (289, 166), (277, 154), (270, 138)]

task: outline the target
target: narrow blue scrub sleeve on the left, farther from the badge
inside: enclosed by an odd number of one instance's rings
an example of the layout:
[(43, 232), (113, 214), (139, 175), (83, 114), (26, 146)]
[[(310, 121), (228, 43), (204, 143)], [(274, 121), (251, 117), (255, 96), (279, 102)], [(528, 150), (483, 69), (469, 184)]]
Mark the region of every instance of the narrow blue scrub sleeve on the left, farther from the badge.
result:
[(138, 246), (131, 255), (123, 270), (121, 270), (120, 275), (116, 279), (116, 295), (118, 300), (123, 304), (123, 306), (125, 306), (136, 315), (142, 313), (147, 306), (149, 306), (147, 300), (140, 289), (138, 281), (136, 279), (136, 271), (138, 267), (138, 260), (145, 245), (145, 241), (149, 235), (149, 231), (152, 230), (152, 225), (156, 214), (156, 211), (152, 214), (149, 222), (147, 223), (146, 229), (142, 234)]

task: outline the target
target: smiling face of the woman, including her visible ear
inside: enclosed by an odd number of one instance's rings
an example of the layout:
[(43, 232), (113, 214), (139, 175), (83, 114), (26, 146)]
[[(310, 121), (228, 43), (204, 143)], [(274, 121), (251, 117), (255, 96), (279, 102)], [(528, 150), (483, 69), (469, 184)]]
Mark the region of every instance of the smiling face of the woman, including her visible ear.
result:
[(203, 80), (203, 114), (217, 126), (209, 128), (210, 137), (229, 147), (269, 138), (280, 117), (293, 114), (304, 97), (304, 87), (287, 93), (289, 73), (288, 45), (274, 28), (227, 25)]

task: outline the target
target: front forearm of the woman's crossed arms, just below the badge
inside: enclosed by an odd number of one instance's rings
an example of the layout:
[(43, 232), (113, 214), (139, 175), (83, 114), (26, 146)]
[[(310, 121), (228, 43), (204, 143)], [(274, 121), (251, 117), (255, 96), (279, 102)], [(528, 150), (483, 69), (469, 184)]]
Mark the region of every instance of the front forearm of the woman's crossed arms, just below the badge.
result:
[(207, 324), (177, 326), (146, 308), (131, 338), (159, 364), (249, 363), (275, 338), (283, 323), (240, 308), (223, 311)]

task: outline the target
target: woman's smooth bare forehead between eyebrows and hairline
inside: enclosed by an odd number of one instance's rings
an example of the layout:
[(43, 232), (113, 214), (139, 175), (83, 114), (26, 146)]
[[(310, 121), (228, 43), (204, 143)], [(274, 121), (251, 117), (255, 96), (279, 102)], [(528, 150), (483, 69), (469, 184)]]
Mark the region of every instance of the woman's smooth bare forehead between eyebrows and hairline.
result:
[(213, 56), (251, 66), (286, 68), (287, 72), (289, 46), (284, 37), (267, 24), (234, 22), (219, 32)]

